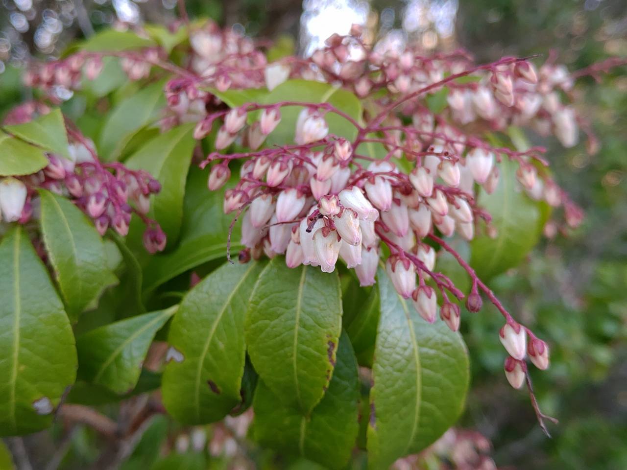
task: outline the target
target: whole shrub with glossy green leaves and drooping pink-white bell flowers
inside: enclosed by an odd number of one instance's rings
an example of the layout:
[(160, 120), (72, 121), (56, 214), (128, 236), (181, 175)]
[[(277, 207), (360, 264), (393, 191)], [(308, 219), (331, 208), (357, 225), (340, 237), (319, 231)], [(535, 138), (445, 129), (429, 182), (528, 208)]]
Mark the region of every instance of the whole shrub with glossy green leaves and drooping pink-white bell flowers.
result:
[(581, 222), (522, 128), (594, 152), (569, 92), (620, 61), (540, 62), (355, 26), (268, 63), (203, 23), (34, 63), (0, 134), (1, 434), (60, 416), (110, 436), (85, 407), (151, 392), (140, 421), (247, 429), (251, 407), (262, 446), (342, 468), (357, 444), (387, 468), (460, 415), (458, 330), (484, 300), (545, 429), (527, 359), (549, 346), (487, 282)]

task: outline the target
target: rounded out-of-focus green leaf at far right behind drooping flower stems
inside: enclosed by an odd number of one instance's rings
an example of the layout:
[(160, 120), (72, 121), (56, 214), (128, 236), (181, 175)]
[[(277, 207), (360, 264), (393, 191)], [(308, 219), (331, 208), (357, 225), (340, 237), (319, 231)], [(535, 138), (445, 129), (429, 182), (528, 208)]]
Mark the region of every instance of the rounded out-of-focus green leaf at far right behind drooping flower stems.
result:
[(482, 234), (470, 243), (470, 264), (484, 280), (520, 264), (540, 238), (539, 206), (520, 191), (516, 167), (503, 157), (497, 189), (487, 194), (482, 188), (478, 194), (479, 206), (490, 212), (497, 229), (496, 238)]

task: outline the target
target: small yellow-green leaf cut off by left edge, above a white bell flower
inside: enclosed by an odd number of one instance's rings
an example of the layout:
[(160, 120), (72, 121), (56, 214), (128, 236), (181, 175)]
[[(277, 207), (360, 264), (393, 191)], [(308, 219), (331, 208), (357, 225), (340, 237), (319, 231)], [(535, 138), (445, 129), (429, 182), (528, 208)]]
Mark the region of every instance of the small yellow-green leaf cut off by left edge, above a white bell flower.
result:
[(45, 150), (0, 130), (0, 175), (29, 175), (48, 165)]

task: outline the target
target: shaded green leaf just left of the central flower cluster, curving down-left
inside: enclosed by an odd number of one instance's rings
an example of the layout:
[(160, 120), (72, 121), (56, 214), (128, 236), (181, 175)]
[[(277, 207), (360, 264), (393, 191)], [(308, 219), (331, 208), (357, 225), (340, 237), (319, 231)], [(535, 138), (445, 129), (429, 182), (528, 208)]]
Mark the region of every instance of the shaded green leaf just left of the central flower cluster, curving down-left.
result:
[[(183, 202), (183, 221), (179, 244), (168, 253), (155, 254), (144, 268), (144, 295), (159, 285), (213, 259), (226, 259), (226, 243), (233, 214), (224, 214), (222, 191), (208, 191), (209, 170), (195, 165), (189, 177)], [(231, 236), (231, 253), (240, 249), (240, 231), (236, 225)]]

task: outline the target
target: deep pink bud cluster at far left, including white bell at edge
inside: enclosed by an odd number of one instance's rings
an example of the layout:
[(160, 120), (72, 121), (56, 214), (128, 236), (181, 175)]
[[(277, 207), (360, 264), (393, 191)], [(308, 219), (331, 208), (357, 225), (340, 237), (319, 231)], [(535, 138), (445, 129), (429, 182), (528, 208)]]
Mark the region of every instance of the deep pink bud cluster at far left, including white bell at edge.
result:
[(38, 218), (37, 189), (43, 188), (73, 201), (92, 219), (101, 235), (111, 228), (126, 236), (131, 216), (137, 214), (147, 226), (147, 251), (162, 251), (166, 234), (146, 216), (150, 194), (159, 192), (161, 184), (143, 170), (130, 170), (117, 162), (103, 164), (93, 150), (93, 142), (76, 131), (70, 130), (70, 134), (79, 140), (68, 146), (69, 159), (49, 153), (43, 170), (0, 180), (0, 221), (26, 224), (31, 218)]

